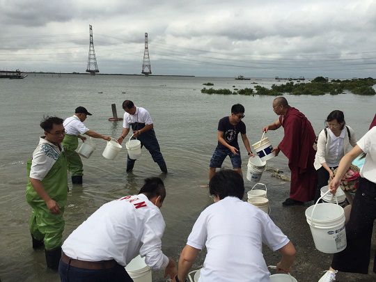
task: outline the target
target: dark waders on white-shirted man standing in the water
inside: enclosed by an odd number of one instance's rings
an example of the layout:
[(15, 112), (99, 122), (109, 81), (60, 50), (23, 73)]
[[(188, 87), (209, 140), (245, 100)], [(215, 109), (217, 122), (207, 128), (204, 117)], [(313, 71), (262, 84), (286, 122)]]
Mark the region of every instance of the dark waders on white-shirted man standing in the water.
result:
[[(164, 158), (162, 156), (161, 149), (159, 148), (159, 143), (157, 137), (155, 136), (155, 132), (145, 132), (145, 134), (141, 134), (139, 136), (139, 141), (141, 141), (141, 148), (145, 146), (145, 148), (150, 152), (152, 159), (159, 165), (159, 168), (167, 172), (166, 163), (164, 162)], [(130, 159), (127, 157), (127, 171), (132, 171), (134, 163), (136, 159)]]

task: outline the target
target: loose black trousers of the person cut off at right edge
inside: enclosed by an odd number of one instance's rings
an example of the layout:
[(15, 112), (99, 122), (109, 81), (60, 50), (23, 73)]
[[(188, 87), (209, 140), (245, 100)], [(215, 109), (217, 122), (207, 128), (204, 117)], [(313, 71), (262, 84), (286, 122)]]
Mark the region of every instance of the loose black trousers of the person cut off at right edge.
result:
[[(368, 274), (370, 264), (370, 246), (373, 221), (376, 219), (376, 183), (359, 178), (359, 187), (355, 194), (346, 224), (346, 249), (334, 254), (331, 267), (340, 272)], [(373, 264), (376, 273), (376, 256)]]

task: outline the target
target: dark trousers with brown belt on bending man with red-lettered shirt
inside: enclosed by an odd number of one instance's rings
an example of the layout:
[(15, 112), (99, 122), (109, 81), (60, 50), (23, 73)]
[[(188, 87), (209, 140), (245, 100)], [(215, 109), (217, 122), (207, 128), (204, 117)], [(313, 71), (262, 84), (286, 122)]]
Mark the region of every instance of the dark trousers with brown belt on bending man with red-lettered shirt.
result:
[(67, 265), (62, 260), (58, 265), (61, 282), (133, 282), (125, 267), (116, 265), (110, 269), (84, 269)]

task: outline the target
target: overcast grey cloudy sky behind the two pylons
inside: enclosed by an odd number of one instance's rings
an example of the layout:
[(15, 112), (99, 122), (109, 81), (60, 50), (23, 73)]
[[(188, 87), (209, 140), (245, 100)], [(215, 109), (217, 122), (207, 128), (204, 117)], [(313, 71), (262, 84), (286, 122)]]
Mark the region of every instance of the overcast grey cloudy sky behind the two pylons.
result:
[(0, 70), (376, 77), (375, 0), (0, 0)]

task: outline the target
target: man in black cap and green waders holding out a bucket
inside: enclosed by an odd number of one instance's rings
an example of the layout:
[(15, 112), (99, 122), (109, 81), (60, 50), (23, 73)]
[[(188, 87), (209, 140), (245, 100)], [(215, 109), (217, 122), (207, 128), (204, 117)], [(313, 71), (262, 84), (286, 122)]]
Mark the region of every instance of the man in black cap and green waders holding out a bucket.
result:
[(68, 171), (72, 173), (73, 184), (82, 184), (82, 175), (84, 174), (81, 158), (76, 152), (78, 139), (81, 139), (83, 142), (86, 140), (86, 137), (81, 135), (86, 134), (93, 138), (102, 138), (107, 141), (111, 139), (109, 136), (104, 136), (97, 132), (93, 132), (93, 130), (89, 130), (83, 123), (87, 116), (91, 116), (91, 113), (89, 113), (88, 110), (84, 107), (77, 107), (75, 114), (66, 118), (63, 123), (65, 127), (63, 146), (66, 150)]

